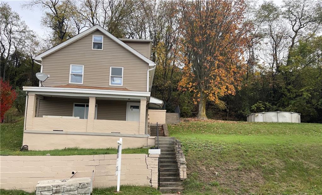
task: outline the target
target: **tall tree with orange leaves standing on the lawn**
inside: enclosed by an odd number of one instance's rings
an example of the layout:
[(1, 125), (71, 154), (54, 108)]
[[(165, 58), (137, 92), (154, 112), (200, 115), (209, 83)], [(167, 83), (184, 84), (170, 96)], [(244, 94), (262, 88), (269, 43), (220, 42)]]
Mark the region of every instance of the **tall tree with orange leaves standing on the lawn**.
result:
[(194, 92), (199, 102), (197, 118), (206, 119), (207, 100), (234, 94), (245, 72), (243, 51), (247, 43), (241, 0), (181, 2), (183, 77), (178, 88)]

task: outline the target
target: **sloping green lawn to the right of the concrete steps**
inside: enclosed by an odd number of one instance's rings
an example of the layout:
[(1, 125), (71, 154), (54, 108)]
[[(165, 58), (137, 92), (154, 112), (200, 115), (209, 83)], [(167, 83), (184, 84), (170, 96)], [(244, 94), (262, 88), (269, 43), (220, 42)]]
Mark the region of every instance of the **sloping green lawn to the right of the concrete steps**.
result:
[(184, 194), (322, 194), (322, 124), (188, 121)]

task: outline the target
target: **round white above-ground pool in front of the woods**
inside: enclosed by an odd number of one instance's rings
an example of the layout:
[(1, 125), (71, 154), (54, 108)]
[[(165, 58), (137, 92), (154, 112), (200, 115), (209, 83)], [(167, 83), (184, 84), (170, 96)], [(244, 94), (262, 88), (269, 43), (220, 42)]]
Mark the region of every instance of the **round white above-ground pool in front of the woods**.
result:
[(259, 112), (247, 115), (247, 122), (301, 123), (296, 112)]

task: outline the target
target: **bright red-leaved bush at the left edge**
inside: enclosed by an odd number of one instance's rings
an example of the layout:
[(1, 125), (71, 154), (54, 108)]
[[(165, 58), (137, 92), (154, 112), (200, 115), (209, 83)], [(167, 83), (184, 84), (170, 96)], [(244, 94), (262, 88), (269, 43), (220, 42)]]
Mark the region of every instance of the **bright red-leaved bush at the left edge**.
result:
[(0, 117), (2, 122), (5, 113), (11, 108), (17, 94), (14, 89), (11, 89), (9, 82), (3, 81), (2, 78), (0, 79), (0, 88)]

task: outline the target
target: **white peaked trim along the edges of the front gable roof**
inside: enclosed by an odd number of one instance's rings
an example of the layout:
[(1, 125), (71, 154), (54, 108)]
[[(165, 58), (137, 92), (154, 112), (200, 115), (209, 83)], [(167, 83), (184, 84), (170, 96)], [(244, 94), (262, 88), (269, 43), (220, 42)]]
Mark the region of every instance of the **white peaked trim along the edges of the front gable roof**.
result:
[(123, 41), (119, 40), (118, 38), (116, 38), (114, 35), (112, 35), (111, 33), (109, 33), (107, 30), (105, 30), (104, 28), (102, 28), (101, 26), (99, 26), (98, 24), (96, 24), (95, 26), (79, 33), (78, 35), (68, 39), (67, 41), (62, 42), (61, 44), (56, 45), (55, 47), (52, 47), (51, 49), (35, 56), (35, 60), (39, 60), (41, 61), (43, 57), (71, 44), (72, 42), (75, 42), (79, 39), (81, 39), (82, 37), (96, 31), (99, 30), (100, 32), (102, 32), (103, 34), (105, 34), (106, 36), (108, 36), (110, 39), (112, 39), (113, 41), (117, 42), (119, 45), (121, 45), (122, 47), (124, 47), (126, 50), (130, 51), (131, 53), (133, 53), (134, 55), (136, 55), (138, 58), (142, 59), (143, 61), (147, 62), (149, 64), (149, 66), (154, 66), (155, 63), (152, 60), (149, 60), (147, 57), (145, 57), (144, 55), (142, 55), (141, 53), (139, 53), (138, 51), (136, 51), (135, 49), (133, 49), (132, 47), (128, 46), (126, 43), (124, 43)]

